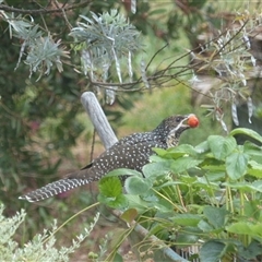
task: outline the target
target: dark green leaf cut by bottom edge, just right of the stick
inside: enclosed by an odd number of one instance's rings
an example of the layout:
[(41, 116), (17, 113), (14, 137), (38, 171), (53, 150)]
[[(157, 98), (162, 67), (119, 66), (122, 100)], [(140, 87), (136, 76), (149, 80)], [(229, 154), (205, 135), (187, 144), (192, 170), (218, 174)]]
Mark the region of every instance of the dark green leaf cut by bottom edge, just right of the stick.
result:
[(216, 240), (205, 242), (200, 249), (201, 262), (217, 262), (226, 252), (226, 245)]

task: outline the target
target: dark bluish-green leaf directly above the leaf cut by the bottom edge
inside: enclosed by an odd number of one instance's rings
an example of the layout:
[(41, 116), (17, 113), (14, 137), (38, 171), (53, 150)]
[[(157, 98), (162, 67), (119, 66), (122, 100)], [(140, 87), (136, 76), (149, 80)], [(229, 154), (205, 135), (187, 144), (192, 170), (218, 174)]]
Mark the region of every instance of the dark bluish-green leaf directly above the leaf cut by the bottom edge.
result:
[(228, 211), (223, 207), (205, 206), (203, 214), (215, 229), (221, 229), (226, 224)]

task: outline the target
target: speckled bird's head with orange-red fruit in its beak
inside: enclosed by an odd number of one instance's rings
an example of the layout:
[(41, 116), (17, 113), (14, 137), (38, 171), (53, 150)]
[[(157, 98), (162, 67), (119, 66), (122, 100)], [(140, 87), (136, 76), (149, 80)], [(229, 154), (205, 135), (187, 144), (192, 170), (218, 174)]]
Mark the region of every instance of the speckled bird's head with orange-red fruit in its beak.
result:
[(199, 126), (199, 119), (193, 114), (177, 115), (166, 118), (160, 126), (166, 144), (171, 147), (178, 144), (179, 138), (184, 130)]

